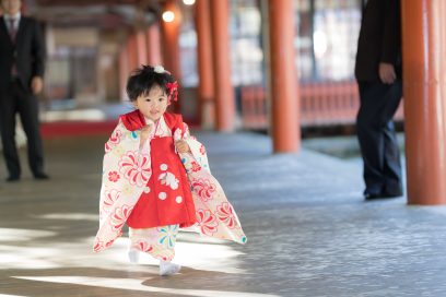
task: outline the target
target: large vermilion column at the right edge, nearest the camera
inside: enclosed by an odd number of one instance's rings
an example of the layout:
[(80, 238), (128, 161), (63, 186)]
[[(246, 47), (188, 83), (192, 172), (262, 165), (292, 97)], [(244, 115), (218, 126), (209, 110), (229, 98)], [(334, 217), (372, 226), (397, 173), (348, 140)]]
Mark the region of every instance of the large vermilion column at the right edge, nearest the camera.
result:
[(401, 1), (409, 204), (446, 203), (446, 1)]

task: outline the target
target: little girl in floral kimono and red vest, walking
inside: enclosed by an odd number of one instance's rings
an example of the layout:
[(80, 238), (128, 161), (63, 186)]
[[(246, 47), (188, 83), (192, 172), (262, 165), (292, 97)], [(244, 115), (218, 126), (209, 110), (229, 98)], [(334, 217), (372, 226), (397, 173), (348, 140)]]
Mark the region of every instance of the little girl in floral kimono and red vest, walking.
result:
[(204, 146), (189, 135), (180, 115), (166, 112), (178, 84), (163, 67), (139, 68), (127, 82), (136, 110), (119, 117), (105, 144), (99, 229), (102, 251), (129, 226), (129, 259), (139, 252), (160, 260), (160, 275), (177, 273), (172, 263), (178, 228), (246, 242), (223, 189), (211, 175)]

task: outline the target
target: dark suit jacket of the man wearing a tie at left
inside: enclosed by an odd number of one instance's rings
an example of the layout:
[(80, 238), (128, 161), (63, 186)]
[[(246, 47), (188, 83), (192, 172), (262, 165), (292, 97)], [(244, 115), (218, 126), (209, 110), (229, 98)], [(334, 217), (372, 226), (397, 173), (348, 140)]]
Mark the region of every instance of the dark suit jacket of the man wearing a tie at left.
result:
[(0, 90), (11, 82), (11, 68), (15, 59), (21, 84), (30, 90), (31, 79), (44, 75), (45, 43), (39, 24), (21, 16), (15, 45), (12, 43), (3, 16), (0, 17)]

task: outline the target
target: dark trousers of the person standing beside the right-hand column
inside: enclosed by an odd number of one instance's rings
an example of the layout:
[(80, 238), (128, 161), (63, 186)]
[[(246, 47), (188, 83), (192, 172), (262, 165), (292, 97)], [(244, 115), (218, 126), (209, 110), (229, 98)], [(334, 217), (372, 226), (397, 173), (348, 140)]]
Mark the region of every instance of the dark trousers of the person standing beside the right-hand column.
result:
[(359, 86), (356, 132), (364, 162), (364, 192), (401, 194), (401, 164), (392, 118), (401, 100), (402, 83), (359, 82)]

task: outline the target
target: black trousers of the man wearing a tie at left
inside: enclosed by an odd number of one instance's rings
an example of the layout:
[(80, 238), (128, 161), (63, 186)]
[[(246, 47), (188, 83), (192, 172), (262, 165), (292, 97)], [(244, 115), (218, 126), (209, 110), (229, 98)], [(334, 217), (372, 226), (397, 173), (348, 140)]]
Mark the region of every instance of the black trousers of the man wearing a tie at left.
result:
[(37, 98), (19, 81), (10, 83), (0, 93), (0, 132), (3, 156), (11, 177), (20, 177), (21, 166), (15, 143), (16, 114), (27, 139), (27, 157), (31, 171), (43, 173), (44, 157), (38, 120)]

